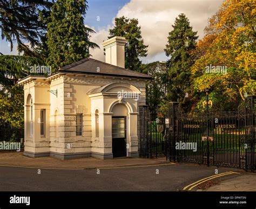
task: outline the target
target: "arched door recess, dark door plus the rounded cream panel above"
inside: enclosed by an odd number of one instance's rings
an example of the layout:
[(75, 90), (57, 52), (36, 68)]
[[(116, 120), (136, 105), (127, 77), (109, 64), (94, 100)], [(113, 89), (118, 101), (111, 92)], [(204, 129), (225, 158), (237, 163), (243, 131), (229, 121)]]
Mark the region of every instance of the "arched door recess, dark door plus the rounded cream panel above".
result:
[(128, 109), (124, 104), (116, 104), (112, 108), (112, 153), (113, 157), (127, 156), (127, 123)]

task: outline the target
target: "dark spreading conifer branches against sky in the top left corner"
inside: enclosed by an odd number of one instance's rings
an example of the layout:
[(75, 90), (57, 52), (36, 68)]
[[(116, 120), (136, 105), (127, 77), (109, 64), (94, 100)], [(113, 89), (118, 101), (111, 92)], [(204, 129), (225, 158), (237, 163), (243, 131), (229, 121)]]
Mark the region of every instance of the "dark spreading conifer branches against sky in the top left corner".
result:
[[(52, 2), (48, 0), (0, 0), (0, 30), (2, 39), (14, 46), (17, 42), (19, 52), (32, 57), (38, 54), (33, 51), (44, 34), (44, 19), (50, 14)], [(30, 44), (28, 46), (25, 43)]]

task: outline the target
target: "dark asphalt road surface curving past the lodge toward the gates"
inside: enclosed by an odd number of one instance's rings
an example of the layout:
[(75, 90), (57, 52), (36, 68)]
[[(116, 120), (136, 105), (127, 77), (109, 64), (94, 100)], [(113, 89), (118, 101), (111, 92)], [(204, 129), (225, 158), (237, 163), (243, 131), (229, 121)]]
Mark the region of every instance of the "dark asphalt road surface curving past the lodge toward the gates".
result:
[[(41, 169), (38, 173), (37, 169), (0, 166), (0, 191), (180, 191), (214, 175), (215, 169), (215, 166), (179, 163), (100, 170)], [(218, 168), (219, 173), (227, 171), (244, 173)]]

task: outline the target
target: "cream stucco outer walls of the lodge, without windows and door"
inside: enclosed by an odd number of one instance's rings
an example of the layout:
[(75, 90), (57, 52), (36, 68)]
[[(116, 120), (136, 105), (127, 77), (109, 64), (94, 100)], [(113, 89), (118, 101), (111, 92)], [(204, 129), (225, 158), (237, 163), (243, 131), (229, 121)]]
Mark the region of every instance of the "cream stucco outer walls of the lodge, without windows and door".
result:
[[(87, 76), (79, 74), (56, 74), (49, 78), (31, 76), (19, 82), (24, 85), (25, 101), (25, 152), (28, 155), (51, 154), (62, 156), (94, 156), (111, 158), (112, 116), (127, 117), (127, 143), (129, 153), (138, 151), (138, 106), (145, 105), (146, 80), (118, 78), (113, 76)], [(115, 85), (110, 85), (115, 83)], [(89, 90), (107, 86), (102, 92), (87, 94)], [(48, 92), (57, 90), (58, 96)], [(139, 92), (139, 100), (118, 100), (119, 91)], [(33, 136), (29, 135), (28, 95), (33, 99)], [(121, 102), (121, 103), (119, 103)], [(125, 108), (122, 108), (125, 107)], [(46, 109), (46, 135), (40, 136), (37, 119), (40, 109)], [(96, 137), (95, 111), (99, 116), (99, 137)], [(56, 117), (56, 110), (58, 115)], [(83, 133), (76, 136), (76, 114), (83, 114)], [(56, 123), (55, 120), (58, 120)], [(58, 124), (58, 127), (55, 127)], [(57, 128), (57, 129), (56, 129)], [(57, 136), (56, 137), (56, 130)]]

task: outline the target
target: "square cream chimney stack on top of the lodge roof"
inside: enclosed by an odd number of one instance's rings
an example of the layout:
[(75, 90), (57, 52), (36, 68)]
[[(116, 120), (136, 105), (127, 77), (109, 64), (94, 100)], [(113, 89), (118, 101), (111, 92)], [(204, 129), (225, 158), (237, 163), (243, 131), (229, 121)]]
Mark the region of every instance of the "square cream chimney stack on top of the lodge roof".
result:
[(118, 67), (125, 67), (125, 44), (128, 41), (121, 36), (115, 36), (105, 40), (102, 44), (105, 48), (105, 62)]

